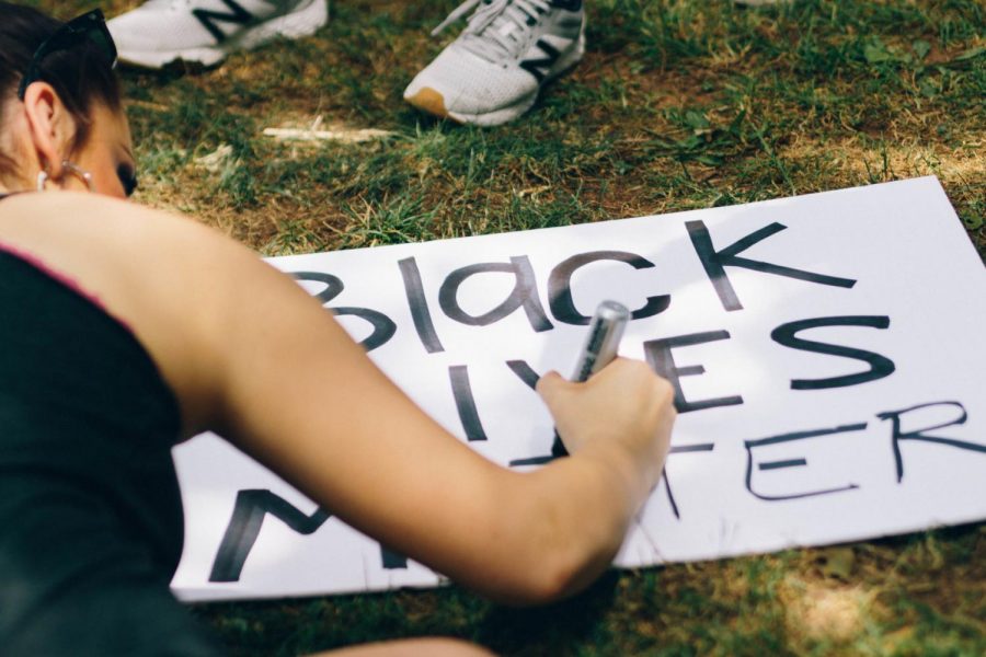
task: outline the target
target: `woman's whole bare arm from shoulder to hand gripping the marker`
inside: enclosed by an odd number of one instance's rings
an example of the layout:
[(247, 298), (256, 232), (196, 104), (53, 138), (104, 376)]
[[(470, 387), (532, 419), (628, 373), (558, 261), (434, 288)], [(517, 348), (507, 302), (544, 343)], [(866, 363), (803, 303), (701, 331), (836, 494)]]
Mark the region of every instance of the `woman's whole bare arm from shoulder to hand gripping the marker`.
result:
[(316, 299), (246, 249), (161, 212), (44, 196), (16, 201), (34, 223), (2, 232), (134, 327), (188, 434), (215, 428), (353, 527), (480, 592), (524, 603), (585, 586), (660, 476), (672, 393), (641, 362), (584, 384), (543, 377), (572, 456), (512, 472), (419, 410)]

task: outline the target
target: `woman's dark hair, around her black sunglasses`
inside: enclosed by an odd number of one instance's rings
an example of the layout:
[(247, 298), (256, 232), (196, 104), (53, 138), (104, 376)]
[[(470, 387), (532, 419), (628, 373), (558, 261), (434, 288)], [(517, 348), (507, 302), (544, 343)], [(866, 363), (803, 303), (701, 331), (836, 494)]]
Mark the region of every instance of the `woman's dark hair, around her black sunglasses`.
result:
[[(0, 131), (10, 103), (20, 102), (18, 87), (31, 66), (34, 53), (61, 26), (61, 22), (30, 7), (0, 1)], [(106, 66), (105, 57), (89, 41), (46, 55), (39, 79), (50, 84), (76, 119), (71, 150), (89, 137), (93, 104), (121, 107), (119, 83)], [(11, 153), (0, 151), (0, 175), (18, 169)]]

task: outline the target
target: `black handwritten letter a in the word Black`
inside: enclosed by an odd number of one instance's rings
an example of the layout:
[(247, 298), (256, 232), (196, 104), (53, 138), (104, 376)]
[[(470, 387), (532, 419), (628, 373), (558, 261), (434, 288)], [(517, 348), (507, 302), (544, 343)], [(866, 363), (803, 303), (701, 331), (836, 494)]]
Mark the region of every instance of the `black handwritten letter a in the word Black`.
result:
[[(459, 306), (459, 286), (470, 276), (490, 273), (513, 274), (514, 289), (503, 303), (490, 312), (478, 316), (471, 315)], [(537, 280), (527, 256), (511, 257), (511, 264), (480, 263), (456, 269), (442, 284), (442, 288), (438, 290), (438, 303), (446, 315), (468, 326), (493, 324), (518, 308), (523, 308), (531, 328), (536, 332), (541, 333), (554, 327), (544, 314), (544, 309), (538, 299)]]

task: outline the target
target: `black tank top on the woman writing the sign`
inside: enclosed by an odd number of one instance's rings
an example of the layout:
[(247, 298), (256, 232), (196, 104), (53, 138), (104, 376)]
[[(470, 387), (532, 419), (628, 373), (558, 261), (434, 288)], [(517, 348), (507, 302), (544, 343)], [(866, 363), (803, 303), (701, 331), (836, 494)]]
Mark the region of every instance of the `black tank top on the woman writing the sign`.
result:
[(0, 653), (222, 654), (168, 591), (180, 424), (135, 335), (0, 243)]

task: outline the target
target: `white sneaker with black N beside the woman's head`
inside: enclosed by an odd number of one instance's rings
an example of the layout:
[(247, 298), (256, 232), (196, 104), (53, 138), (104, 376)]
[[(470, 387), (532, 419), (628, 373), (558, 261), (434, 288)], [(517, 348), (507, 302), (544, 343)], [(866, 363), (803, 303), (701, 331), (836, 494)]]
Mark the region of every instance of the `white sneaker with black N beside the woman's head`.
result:
[(148, 0), (106, 24), (119, 60), (160, 69), (172, 61), (215, 66), (276, 36), (313, 34), (328, 0)]

